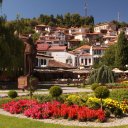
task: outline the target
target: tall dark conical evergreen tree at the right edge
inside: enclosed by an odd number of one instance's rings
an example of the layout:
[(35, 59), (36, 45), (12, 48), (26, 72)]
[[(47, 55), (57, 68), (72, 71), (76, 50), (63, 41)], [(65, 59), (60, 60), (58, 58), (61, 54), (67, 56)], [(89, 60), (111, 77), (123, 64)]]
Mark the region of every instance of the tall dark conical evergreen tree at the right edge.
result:
[(115, 65), (119, 69), (125, 69), (128, 64), (128, 40), (122, 31), (118, 37), (115, 54)]

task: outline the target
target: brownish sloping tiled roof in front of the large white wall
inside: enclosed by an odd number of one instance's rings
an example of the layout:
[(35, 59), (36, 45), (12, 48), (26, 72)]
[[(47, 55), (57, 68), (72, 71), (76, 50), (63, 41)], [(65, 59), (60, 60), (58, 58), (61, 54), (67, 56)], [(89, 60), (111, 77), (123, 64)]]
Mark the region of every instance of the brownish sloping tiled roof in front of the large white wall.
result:
[(53, 67), (53, 68), (73, 68), (69, 64), (58, 62), (56, 60), (49, 60), (48, 67)]

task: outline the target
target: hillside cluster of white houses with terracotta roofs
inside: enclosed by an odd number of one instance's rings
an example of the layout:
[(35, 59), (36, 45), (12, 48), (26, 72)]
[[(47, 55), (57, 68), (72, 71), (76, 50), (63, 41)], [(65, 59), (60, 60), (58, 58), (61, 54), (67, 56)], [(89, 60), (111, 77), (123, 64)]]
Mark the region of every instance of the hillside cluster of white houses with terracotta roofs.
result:
[[(87, 77), (105, 50), (117, 43), (122, 30), (125, 30), (127, 37), (128, 28), (117, 29), (112, 22), (96, 24), (93, 32), (86, 27), (36, 25), (34, 31), (39, 37), (35, 42), (37, 55), (34, 71), (42, 73), (47, 81), (50, 76), (54, 80)], [(20, 38), (25, 41), (28, 35), (20, 35)]]

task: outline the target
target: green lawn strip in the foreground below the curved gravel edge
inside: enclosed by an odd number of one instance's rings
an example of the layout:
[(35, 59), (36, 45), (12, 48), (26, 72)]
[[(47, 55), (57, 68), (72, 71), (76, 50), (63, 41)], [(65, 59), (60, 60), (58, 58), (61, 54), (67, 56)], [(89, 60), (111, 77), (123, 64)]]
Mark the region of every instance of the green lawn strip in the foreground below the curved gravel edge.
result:
[[(0, 115), (0, 128), (92, 128), (92, 127), (77, 127), (77, 126), (47, 124), (31, 119), (20, 119), (16, 117)], [(95, 128), (101, 128), (101, 127), (95, 127)], [(109, 127), (109, 128), (128, 128), (128, 125)]]

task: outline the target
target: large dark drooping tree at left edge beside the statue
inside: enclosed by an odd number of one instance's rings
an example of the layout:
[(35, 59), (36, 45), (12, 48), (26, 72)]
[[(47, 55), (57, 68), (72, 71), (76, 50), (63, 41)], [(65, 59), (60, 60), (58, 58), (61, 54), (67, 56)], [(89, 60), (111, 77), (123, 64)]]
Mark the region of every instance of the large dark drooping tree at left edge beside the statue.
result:
[(5, 21), (0, 17), (0, 72), (14, 76), (23, 68), (24, 46), (14, 30), (5, 26)]

